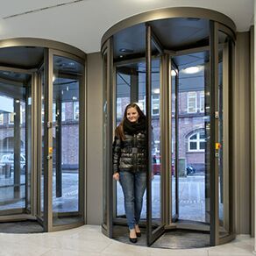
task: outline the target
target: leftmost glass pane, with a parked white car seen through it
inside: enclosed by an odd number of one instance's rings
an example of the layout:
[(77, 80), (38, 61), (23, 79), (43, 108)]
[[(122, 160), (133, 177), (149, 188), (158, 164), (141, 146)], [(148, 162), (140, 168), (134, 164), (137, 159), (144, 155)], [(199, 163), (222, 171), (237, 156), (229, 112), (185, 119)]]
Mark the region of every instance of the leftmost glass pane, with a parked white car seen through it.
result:
[(31, 122), (26, 124), (26, 93), (31, 92), (31, 75), (0, 70), (0, 78), (4, 78), (0, 82), (0, 215), (6, 215), (25, 212), (30, 205), (26, 127)]

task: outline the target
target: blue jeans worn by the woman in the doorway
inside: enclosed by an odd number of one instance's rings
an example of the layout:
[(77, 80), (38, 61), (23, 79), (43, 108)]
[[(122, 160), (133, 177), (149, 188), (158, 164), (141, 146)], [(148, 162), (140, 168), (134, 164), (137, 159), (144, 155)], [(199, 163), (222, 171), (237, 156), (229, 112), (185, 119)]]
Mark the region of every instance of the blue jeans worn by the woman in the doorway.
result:
[(143, 195), (146, 190), (146, 172), (120, 171), (119, 181), (124, 192), (124, 209), (129, 229), (139, 224)]

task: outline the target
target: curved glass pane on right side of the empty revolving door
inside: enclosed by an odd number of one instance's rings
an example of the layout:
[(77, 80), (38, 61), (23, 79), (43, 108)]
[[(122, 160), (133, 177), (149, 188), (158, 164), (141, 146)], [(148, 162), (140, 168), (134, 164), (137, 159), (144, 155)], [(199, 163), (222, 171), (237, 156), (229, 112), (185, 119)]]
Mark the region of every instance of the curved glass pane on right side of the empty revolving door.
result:
[(79, 211), (82, 68), (75, 60), (53, 56), (53, 225), (74, 223), (82, 218)]

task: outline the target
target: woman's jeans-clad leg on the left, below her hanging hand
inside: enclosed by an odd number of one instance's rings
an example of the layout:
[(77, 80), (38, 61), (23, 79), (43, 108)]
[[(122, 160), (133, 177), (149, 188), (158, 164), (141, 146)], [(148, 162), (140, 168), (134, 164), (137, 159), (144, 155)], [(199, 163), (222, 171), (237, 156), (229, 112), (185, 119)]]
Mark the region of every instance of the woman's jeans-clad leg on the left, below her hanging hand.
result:
[(131, 172), (120, 172), (120, 184), (124, 192), (124, 210), (127, 218), (128, 227), (134, 229), (134, 174)]

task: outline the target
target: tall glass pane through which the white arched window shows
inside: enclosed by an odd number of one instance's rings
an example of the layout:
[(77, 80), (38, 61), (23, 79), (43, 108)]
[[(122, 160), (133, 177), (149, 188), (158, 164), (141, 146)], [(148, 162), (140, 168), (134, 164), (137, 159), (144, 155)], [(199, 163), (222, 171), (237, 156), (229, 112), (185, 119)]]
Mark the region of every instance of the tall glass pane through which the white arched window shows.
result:
[[(209, 80), (207, 76), (209, 52), (190, 53), (174, 57), (174, 60), (176, 63), (182, 61), (178, 89), (179, 218), (207, 222), (205, 207), (205, 177), (207, 175), (205, 166), (207, 162), (200, 137), (207, 129), (206, 122), (209, 120), (205, 106), (202, 110), (201, 105)], [(188, 72), (192, 68), (195, 69), (195, 73)]]

